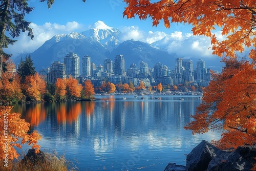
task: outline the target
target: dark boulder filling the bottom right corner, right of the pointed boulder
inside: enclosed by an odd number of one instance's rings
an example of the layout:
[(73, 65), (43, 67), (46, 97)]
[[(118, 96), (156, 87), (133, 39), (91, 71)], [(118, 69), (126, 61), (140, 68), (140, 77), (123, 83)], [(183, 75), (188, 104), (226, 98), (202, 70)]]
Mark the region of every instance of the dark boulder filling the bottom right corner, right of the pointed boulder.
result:
[(215, 167), (208, 167), (208, 170), (250, 170), (256, 164), (256, 145), (239, 146), (236, 150), (230, 153), (226, 160), (222, 160)]

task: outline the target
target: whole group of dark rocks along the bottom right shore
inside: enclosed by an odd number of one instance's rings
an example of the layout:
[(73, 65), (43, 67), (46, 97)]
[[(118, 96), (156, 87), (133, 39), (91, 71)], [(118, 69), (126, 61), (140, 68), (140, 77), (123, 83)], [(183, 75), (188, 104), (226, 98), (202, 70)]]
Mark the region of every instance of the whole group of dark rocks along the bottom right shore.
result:
[(251, 170), (256, 165), (256, 145), (223, 151), (203, 140), (186, 157), (186, 165), (168, 163), (164, 171), (236, 171)]

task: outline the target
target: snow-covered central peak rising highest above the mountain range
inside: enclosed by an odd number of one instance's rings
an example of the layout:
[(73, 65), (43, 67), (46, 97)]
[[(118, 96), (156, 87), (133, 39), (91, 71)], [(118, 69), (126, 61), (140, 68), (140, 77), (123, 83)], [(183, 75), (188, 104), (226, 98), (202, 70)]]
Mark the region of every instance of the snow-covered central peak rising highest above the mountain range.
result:
[(119, 41), (121, 32), (118, 29), (105, 25), (102, 21), (94, 23), (89, 30), (81, 34), (93, 40), (97, 40), (110, 52), (121, 44), (121, 41)]

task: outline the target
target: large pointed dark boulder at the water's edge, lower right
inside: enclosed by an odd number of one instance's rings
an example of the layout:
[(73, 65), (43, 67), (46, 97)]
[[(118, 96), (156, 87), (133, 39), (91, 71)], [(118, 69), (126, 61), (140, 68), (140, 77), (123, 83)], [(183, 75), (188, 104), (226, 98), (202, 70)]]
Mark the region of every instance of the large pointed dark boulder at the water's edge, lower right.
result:
[(186, 170), (204, 171), (207, 170), (209, 162), (216, 157), (220, 149), (203, 140), (186, 157)]

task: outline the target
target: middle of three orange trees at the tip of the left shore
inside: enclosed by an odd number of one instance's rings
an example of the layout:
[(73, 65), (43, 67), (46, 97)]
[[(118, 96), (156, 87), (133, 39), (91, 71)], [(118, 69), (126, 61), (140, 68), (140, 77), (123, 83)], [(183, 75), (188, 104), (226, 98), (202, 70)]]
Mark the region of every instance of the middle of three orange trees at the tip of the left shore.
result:
[(69, 77), (66, 79), (66, 91), (68, 100), (77, 100), (81, 97), (82, 85), (78, 83), (78, 80)]

